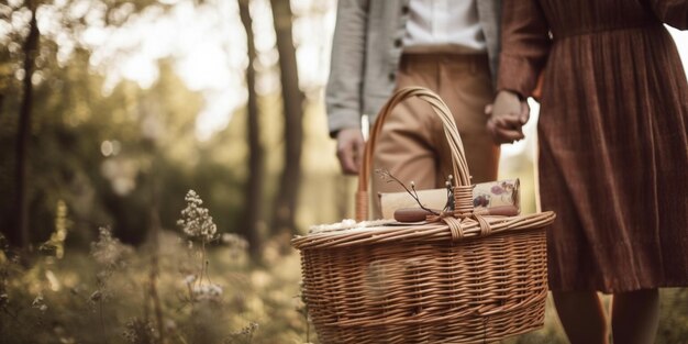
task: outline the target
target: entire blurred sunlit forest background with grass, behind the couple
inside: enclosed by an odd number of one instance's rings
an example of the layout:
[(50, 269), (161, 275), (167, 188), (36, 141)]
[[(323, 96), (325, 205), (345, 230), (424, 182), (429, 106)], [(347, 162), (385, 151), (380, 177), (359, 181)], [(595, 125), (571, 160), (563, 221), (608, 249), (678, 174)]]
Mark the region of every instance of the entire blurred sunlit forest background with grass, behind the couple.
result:
[[(353, 217), (323, 106), (334, 15), (0, 1), (0, 343), (317, 343), (289, 240)], [(525, 212), (532, 108), (500, 170)], [(688, 341), (687, 300), (663, 293), (661, 343)], [(510, 343), (564, 343), (547, 314)]]

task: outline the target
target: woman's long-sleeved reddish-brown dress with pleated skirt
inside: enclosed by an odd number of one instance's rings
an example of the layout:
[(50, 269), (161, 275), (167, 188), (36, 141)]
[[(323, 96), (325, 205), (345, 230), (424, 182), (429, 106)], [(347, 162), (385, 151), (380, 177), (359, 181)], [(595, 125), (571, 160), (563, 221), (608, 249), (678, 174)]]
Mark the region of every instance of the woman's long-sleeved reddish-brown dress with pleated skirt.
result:
[(543, 73), (550, 288), (688, 286), (688, 86), (663, 22), (686, 0), (504, 0), (499, 89)]

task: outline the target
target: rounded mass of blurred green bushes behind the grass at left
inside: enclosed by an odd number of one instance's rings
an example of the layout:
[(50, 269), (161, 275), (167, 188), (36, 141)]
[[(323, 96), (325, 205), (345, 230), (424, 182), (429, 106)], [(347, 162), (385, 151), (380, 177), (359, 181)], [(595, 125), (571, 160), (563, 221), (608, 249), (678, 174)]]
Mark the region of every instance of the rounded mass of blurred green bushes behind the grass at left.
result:
[[(87, 52), (75, 53), (68, 66), (52, 73), (35, 92), (29, 190), (34, 242), (47, 240), (58, 200), (71, 211), (77, 233), (71, 240), (81, 243), (91, 238), (93, 224), (106, 223), (126, 242), (141, 242), (154, 201), (164, 224), (174, 226), (166, 219), (174, 219), (180, 198), (160, 195), (184, 195), (191, 185), (204, 193), (224, 190), (223, 199), (212, 198), (214, 204), (236, 209), (228, 206), (236, 200), (226, 198), (240, 195), (236, 171), (207, 157), (210, 146), (199, 146), (193, 121), (202, 100), (186, 89), (168, 64), (163, 63), (162, 77), (149, 89), (122, 82), (110, 95), (102, 93), (103, 78), (88, 71)], [(3, 147), (14, 145), (16, 107), (8, 102), (11, 115), (0, 116)], [(106, 151), (106, 144), (116, 146)], [(14, 152), (0, 149), (0, 158), (13, 162)], [(8, 196), (0, 200), (4, 228), (12, 226), (13, 165), (0, 167), (0, 190)], [(221, 232), (230, 230), (233, 213), (220, 219)]]

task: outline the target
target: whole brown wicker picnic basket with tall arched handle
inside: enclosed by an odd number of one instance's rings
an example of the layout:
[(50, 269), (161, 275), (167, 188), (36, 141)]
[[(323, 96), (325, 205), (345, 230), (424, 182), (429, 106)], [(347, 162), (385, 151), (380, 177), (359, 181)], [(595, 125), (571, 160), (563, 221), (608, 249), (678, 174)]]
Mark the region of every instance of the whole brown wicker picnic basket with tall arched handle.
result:
[(380, 111), (366, 146), (356, 202), (367, 218), (375, 138), (409, 97), (444, 124), (454, 165), (452, 212), (422, 223), (358, 222), (292, 240), (303, 296), (322, 343), (489, 343), (543, 325), (547, 295), (545, 226), (553, 212), (488, 217), (473, 212), (464, 147), (446, 104), (404, 88)]

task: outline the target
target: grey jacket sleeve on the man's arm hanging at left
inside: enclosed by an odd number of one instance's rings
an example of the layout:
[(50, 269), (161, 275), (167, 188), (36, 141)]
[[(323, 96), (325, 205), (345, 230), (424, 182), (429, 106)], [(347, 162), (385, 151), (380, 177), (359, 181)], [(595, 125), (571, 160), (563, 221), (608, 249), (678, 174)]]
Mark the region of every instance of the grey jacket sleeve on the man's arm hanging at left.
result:
[(325, 107), (330, 135), (360, 126), (367, 0), (337, 1)]

